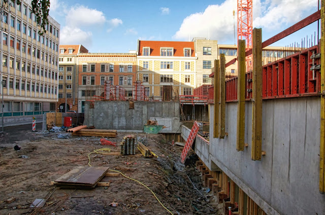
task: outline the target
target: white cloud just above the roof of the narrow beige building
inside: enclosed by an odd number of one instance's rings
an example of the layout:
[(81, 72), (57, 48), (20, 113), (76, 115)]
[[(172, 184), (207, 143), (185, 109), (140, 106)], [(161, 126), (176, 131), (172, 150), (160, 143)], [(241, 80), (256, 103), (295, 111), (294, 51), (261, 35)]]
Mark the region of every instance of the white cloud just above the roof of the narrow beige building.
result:
[(92, 44), (92, 33), (77, 27), (64, 26), (60, 32), (60, 44), (82, 44), (85, 47), (90, 47)]

